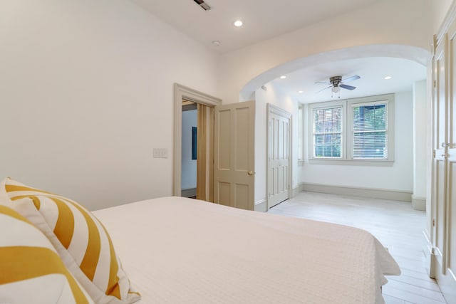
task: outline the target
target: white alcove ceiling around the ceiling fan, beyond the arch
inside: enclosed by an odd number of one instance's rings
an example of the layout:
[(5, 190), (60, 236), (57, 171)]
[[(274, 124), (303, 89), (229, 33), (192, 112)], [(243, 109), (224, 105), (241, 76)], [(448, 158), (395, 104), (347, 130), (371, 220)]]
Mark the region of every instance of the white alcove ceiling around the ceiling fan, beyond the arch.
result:
[[(355, 90), (341, 88), (339, 93), (332, 93), (331, 88), (328, 88), (329, 85), (316, 84), (316, 82), (329, 82), (328, 77), (337, 75), (342, 76), (342, 80), (353, 75), (359, 75), (361, 78), (346, 83), (356, 87)], [(391, 78), (385, 80), (386, 76)], [(286, 74), (285, 79), (274, 79), (271, 83), (278, 85), (281, 90), (285, 90), (301, 103), (316, 103), (338, 98), (348, 99), (410, 91), (413, 83), (425, 78), (425, 66), (415, 61), (369, 57), (313, 65)]]

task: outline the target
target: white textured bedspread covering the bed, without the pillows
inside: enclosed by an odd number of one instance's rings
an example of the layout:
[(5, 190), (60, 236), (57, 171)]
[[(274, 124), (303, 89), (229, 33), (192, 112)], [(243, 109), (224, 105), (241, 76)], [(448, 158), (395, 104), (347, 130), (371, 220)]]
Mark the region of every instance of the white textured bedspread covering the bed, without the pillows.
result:
[(94, 211), (139, 303), (383, 303), (400, 270), (367, 231), (165, 197)]

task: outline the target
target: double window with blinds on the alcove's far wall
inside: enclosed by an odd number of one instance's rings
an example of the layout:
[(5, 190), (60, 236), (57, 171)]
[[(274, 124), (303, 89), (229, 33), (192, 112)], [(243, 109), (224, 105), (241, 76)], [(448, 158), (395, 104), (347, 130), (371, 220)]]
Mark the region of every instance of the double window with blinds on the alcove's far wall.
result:
[(393, 94), (310, 104), (310, 160), (393, 161), (393, 114)]

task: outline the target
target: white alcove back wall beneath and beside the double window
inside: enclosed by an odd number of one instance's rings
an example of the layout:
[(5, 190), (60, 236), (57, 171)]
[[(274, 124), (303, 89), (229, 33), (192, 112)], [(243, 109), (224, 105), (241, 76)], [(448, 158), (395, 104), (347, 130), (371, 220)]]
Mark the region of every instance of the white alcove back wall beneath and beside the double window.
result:
[[(413, 191), (413, 95), (395, 93), (395, 161), (392, 167), (309, 164), (309, 122), (304, 123), (301, 182), (328, 186)], [(306, 112), (304, 117), (309, 117)]]

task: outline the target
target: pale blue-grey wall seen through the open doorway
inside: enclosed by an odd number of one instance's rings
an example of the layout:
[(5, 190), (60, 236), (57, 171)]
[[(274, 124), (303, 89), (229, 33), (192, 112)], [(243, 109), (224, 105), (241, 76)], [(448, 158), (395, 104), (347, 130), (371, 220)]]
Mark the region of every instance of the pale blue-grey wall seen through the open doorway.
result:
[(197, 187), (197, 160), (192, 159), (192, 127), (197, 126), (197, 110), (182, 112), (182, 190)]

